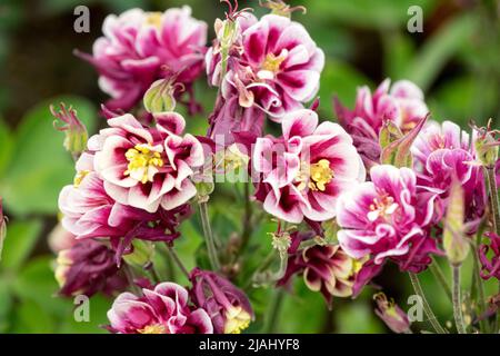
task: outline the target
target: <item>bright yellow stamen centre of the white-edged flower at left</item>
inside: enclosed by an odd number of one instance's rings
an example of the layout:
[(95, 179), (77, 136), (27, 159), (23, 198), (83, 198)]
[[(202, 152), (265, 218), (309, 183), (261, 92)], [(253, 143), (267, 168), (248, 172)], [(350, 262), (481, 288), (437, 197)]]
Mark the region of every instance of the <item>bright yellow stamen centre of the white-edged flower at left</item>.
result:
[(163, 167), (160, 152), (149, 144), (136, 145), (126, 152), (129, 161), (127, 170), (123, 172), (133, 179), (146, 184), (152, 181), (158, 168)]

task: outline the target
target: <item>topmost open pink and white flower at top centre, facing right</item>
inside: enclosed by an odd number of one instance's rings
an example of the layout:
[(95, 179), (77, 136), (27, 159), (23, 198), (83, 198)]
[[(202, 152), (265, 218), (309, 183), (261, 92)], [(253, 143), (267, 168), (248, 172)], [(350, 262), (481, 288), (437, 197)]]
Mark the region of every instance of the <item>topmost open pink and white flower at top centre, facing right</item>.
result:
[[(236, 97), (241, 110), (256, 107), (280, 121), (313, 99), (324, 55), (302, 24), (276, 14), (257, 20), (242, 13), (236, 19), (232, 40), (223, 78), (220, 40), (206, 57), (209, 81), (213, 86), (222, 82), (224, 100)], [(256, 130), (260, 131), (261, 123), (254, 122), (260, 126)]]

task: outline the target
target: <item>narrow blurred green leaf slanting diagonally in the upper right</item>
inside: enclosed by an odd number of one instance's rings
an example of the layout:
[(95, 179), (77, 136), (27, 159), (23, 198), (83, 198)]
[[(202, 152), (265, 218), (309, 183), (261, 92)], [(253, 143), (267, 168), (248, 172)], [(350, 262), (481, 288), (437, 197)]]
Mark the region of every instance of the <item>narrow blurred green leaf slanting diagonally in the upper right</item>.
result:
[(427, 91), (447, 61), (473, 33), (476, 19), (462, 14), (449, 20), (438, 33), (428, 39), (409, 66), (407, 78)]

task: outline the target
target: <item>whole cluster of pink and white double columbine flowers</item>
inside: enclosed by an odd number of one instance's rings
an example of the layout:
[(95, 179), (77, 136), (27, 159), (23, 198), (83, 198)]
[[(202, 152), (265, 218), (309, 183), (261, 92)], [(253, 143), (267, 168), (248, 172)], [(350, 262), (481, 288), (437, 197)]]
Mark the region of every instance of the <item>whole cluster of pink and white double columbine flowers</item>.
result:
[[(288, 224), (274, 235), (284, 260), (278, 286), (302, 275), (330, 301), (357, 296), (388, 261), (412, 274), (424, 270), (431, 255), (444, 254), (444, 217), (457, 184), (463, 190), (463, 235), (478, 230), (489, 210), (486, 166), (500, 180), (491, 129), (470, 137), (451, 121), (429, 121), (422, 91), (404, 80), (386, 80), (373, 93), (360, 88), (353, 110), (334, 99), (339, 123), (320, 122), (318, 102), (304, 105), (318, 92), (324, 55), (290, 19), (296, 9), (268, 1), (272, 13), (258, 19), (229, 6), (209, 48), (207, 24), (184, 7), (110, 16), (93, 55), (79, 53), (97, 67), (101, 89), (113, 99), (102, 110), (107, 128), (90, 137), (74, 182), (60, 194), (69, 235), (53, 243), (62, 295), (132, 287), (122, 267), (136, 253), (133, 243), (172, 246), (197, 196), (194, 178), (220, 150), (217, 136), (224, 138), (222, 151), (244, 148), (241, 161), (252, 171), (254, 199)], [(192, 93), (203, 68), (218, 88), (206, 137), (183, 134), (184, 118), (169, 105), (149, 109), (148, 120), (124, 113), (150, 88), (160, 88), (160, 102), (181, 99), (178, 85)], [(192, 112), (192, 97), (187, 103)], [(69, 137), (81, 134), (73, 111), (57, 116)], [(281, 126), (279, 137), (266, 135), (267, 119)], [(479, 248), (483, 278), (500, 277), (499, 240), (491, 234)], [(232, 333), (249, 325), (247, 296), (221, 274), (196, 268), (189, 279), (188, 289), (138, 281), (141, 295), (116, 298), (109, 329)], [(389, 305), (382, 299), (379, 305)]]

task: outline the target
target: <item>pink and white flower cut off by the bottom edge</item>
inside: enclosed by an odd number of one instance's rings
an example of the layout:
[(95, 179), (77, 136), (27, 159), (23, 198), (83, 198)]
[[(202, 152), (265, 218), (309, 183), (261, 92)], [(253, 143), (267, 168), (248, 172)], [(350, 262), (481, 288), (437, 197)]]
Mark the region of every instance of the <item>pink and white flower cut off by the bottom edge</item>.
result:
[(209, 315), (190, 307), (188, 297), (188, 290), (168, 281), (143, 288), (142, 296), (123, 293), (108, 312), (108, 328), (120, 334), (212, 334)]

